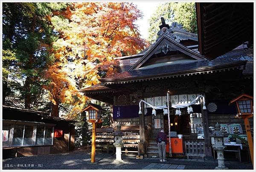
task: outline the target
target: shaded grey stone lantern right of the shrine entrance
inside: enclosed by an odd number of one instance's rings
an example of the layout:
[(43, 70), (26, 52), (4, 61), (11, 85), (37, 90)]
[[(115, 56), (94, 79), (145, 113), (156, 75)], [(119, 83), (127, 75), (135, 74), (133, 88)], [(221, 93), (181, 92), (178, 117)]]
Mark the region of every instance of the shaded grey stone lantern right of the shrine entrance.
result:
[(226, 146), (224, 146), (224, 137), (227, 137), (228, 134), (222, 133), (220, 129), (221, 125), (217, 122), (215, 124), (215, 131), (210, 135), (210, 137), (214, 139), (212, 148), (217, 152), (218, 166), (216, 166), (215, 169), (228, 169), (225, 167), (224, 163), (224, 149), (226, 149)]

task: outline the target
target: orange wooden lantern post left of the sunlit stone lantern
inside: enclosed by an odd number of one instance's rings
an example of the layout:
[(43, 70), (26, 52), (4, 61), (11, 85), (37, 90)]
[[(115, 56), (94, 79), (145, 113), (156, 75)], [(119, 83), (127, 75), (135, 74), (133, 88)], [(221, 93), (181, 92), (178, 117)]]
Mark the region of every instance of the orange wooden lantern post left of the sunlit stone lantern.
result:
[(101, 106), (90, 103), (83, 111), (89, 113), (89, 122), (93, 124), (92, 129), (92, 149), (91, 149), (91, 163), (95, 162), (95, 149), (96, 149), (96, 123), (102, 123), (101, 115), (106, 112)]

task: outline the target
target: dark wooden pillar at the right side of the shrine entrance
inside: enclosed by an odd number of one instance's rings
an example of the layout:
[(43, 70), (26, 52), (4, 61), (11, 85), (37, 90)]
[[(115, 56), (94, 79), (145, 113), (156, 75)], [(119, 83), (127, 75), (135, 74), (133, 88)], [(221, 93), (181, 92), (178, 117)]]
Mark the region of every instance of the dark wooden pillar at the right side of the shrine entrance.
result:
[[(209, 156), (212, 156), (212, 149), (211, 149), (211, 140), (209, 137), (208, 114), (207, 114), (207, 109), (203, 109), (202, 99), (200, 99), (200, 103), (201, 103), (201, 112), (202, 112), (203, 126), (204, 126), (205, 156), (209, 157)], [(206, 103), (205, 103), (205, 106), (206, 106)]]

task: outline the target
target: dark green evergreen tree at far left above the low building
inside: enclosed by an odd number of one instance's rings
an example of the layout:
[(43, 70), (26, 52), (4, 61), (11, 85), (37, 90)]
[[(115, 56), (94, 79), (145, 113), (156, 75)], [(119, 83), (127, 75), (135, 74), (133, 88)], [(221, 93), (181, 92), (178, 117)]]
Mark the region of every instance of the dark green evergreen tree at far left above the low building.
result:
[(23, 100), (25, 108), (38, 109), (40, 101), (44, 101), (42, 71), (52, 59), (52, 42), (58, 36), (47, 18), (52, 11), (66, 6), (64, 3), (3, 3), (3, 102), (6, 93), (15, 95), (17, 101)]

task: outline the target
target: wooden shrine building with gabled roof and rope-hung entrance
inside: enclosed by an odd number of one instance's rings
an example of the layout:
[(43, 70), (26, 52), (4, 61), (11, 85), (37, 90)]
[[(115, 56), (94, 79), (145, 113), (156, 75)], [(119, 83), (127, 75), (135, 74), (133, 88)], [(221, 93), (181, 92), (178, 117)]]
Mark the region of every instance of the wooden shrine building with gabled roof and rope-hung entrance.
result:
[[(175, 22), (169, 26), (163, 19), (159, 27), (157, 40), (148, 48), (116, 58), (118, 73), (80, 92), (113, 105), (113, 120), (126, 133), (123, 152), (158, 156), (156, 135), (161, 129), (168, 135), (170, 127), (174, 157), (213, 157), (209, 128), (217, 121), (223, 125), (223, 132), (246, 134), (243, 120), (235, 118), (235, 105), (229, 102), (241, 94), (253, 95), (253, 50), (242, 43), (208, 60), (198, 51), (197, 34)], [(140, 109), (141, 100), (146, 103), (141, 102)], [(164, 109), (151, 107), (167, 107), (168, 102), (170, 119)], [(234, 124), (236, 131), (230, 129)], [(103, 138), (96, 141), (102, 145), (108, 142), (109, 148), (112, 141)]]

